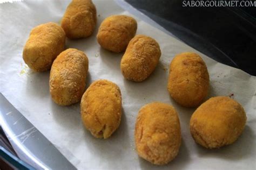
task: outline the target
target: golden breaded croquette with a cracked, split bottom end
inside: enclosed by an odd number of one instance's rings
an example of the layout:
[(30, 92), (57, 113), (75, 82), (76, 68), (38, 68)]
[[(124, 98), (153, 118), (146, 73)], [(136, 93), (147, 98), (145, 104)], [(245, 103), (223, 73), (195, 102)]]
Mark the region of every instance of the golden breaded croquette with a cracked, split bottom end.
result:
[(96, 138), (109, 138), (122, 116), (122, 97), (117, 84), (98, 80), (85, 91), (81, 100), (84, 126)]

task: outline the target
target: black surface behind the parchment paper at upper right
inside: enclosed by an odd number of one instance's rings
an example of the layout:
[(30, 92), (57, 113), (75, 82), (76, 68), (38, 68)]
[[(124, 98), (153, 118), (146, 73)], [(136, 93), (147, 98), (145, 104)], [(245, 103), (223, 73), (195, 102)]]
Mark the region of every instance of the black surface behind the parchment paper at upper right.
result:
[(256, 75), (256, 7), (183, 7), (183, 0), (126, 2), (201, 53)]

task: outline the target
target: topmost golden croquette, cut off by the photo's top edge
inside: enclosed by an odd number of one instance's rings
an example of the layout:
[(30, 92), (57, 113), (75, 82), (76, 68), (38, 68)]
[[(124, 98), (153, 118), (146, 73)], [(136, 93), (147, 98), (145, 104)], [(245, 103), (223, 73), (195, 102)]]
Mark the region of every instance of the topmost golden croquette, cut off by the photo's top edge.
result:
[(73, 0), (62, 18), (62, 28), (70, 39), (91, 36), (97, 22), (96, 8), (91, 0)]

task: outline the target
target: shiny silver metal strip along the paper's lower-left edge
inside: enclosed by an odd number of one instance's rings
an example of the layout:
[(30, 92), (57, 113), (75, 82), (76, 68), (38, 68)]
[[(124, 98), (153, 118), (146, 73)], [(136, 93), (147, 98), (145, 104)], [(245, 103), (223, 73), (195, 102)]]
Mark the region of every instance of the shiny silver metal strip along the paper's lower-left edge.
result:
[(0, 123), (19, 158), (37, 169), (76, 169), (0, 93)]

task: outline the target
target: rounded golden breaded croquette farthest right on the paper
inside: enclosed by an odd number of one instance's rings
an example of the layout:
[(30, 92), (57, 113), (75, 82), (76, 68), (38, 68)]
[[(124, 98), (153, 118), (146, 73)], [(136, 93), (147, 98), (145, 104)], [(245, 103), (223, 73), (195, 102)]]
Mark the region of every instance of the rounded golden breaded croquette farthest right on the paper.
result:
[(245, 128), (244, 108), (230, 97), (212, 97), (194, 111), (190, 131), (196, 143), (206, 148), (230, 145)]

